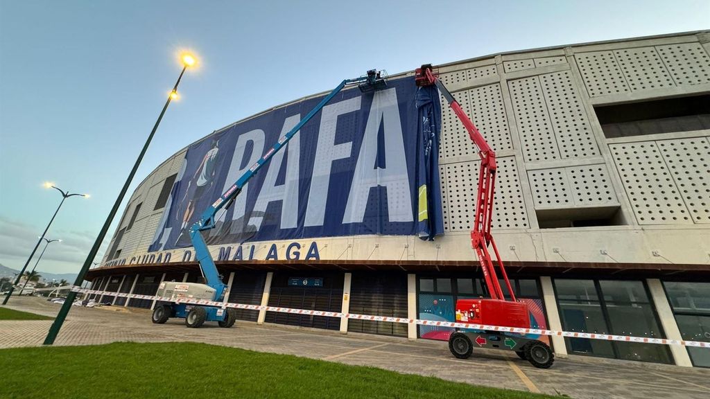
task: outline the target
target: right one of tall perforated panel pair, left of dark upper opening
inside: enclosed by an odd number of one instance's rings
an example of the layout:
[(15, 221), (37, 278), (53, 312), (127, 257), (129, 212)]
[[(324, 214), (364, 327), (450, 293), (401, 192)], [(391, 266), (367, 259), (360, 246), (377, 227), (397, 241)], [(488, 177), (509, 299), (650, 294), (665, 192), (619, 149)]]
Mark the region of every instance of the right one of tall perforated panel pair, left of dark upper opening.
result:
[(559, 155), (562, 158), (599, 155), (599, 148), (569, 71), (540, 75), (540, 83), (555, 129)]

